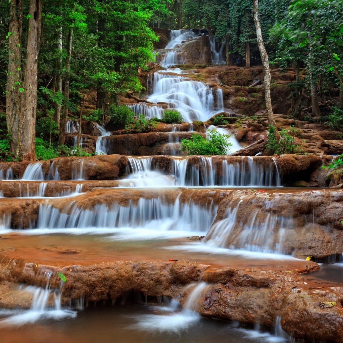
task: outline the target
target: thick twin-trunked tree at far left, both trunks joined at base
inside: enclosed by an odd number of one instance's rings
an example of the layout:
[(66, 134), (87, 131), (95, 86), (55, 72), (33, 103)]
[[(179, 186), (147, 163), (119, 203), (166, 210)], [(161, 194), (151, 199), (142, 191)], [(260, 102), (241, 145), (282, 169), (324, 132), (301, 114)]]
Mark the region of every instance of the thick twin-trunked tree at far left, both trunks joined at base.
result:
[[(11, 151), (23, 161), (34, 161), (36, 139), (38, 51), (43, 0), (30, 0), (26, 57), (22, 60), (23, 0), (11, 1), (9, 25), (9, 66), (6, 115), (11, 134)], [(24, 74), (22, 74), (24, 67)]]

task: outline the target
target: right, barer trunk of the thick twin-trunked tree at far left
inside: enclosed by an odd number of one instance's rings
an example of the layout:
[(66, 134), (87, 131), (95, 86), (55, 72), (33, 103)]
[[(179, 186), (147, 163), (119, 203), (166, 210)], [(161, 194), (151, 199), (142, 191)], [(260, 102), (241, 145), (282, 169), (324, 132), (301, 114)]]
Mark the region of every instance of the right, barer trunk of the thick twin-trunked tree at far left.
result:
[(26, 47), (26, 66), (24, 74), (24, 94), (19, 113), (20, 140), (16, 147), (16, 156), (21, 161), (36, 160), (36, 109), (37, 109), (37, 74), (40, 29), (42, 25), (43, 0), (30, 0)]

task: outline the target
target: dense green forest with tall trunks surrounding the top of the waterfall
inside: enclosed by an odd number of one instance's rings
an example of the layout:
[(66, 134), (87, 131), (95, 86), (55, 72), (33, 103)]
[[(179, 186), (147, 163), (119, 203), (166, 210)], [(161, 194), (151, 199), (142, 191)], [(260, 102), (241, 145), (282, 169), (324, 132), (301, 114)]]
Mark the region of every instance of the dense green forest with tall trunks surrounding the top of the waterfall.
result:
[[(308, 120), (340, 128), (342, 1), (261, 0), (258, 11), (269, 61), (297, 71), (289, 85), (290, 115), (300, 115), (299, 99), (307, 92)], [(139, 94), (138, 70), (153, 68), (154, 28), (205, 28), (225, 43), (228, 65), (262, 64), (252, 0), (6, 0), (0, 13), (0, 153), (7, 160), (44, 158), (46, 150), (50, 157), (68, 154), (68, 118), (104, 122), (120, 94)], [(96, 110), (90, 113), (92, 92)]]

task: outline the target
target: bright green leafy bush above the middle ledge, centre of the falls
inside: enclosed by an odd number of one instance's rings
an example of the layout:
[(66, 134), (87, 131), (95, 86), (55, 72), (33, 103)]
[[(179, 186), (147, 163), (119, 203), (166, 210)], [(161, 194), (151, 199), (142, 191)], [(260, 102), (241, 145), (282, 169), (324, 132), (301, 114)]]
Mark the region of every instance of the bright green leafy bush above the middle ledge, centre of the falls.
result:
[(186, 155), (226, 155), (229, 146), (232, 145), (228, 141), (229, 137), (218, 131), (211, 131), (209, 138), (194, 133), (190, 139), (181, 140), (180, 150)]

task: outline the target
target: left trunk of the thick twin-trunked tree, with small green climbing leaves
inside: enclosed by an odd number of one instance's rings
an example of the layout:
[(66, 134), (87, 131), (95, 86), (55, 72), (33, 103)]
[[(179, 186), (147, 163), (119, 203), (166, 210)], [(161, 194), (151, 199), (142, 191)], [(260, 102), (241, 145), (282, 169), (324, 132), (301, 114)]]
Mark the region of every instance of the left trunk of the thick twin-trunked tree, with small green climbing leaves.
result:
[(9, 48), (8, 48), (8, 73), (6, 86), (6, 121), (9, 137), (10, 150), (15, 155), (18, 141), (18, 126), (20, 113), (20, 88), (22, 83), (21, 70), (21, 35), (23, 24), (23, 0), (11, 1), (10, 25), (9, 25)]

